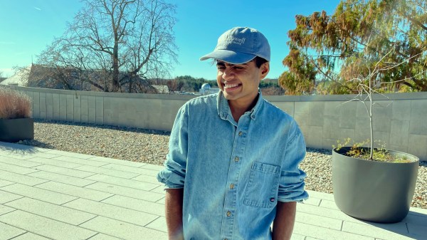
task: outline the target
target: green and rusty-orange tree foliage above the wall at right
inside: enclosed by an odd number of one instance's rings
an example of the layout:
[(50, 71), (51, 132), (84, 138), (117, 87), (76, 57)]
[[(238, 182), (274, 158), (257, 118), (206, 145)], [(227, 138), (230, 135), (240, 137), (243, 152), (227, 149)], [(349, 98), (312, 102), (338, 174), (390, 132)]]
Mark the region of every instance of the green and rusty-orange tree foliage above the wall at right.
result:
[(295, 95), (354, 93), (354, 78), (380, 69), (370, 78), (380, 93), (427, 91), (425, 9), (424, 0), (343, 0), (332, 15), (295, 16), (280, 85)]

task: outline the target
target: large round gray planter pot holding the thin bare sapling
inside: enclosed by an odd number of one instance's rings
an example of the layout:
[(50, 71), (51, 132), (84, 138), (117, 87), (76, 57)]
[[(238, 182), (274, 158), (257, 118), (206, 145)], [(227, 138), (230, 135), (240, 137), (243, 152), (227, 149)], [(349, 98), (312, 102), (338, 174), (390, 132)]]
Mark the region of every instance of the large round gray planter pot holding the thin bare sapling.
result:
[(337, 207), (366, 221), (393, 223), (404, 219), (415, 191), (418, 157), (389, 151), (411, 162), (376, 162), (344, 155), (349, 148), (332, 150), (332, 185)]

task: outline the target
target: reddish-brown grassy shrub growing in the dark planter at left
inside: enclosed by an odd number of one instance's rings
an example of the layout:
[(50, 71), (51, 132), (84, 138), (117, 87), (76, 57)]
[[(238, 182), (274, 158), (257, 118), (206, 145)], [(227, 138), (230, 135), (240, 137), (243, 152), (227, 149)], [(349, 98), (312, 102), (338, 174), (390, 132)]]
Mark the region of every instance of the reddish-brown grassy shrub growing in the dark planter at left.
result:
[(30, 118), (31, 98), (17, 90), (0, 87), (0, 118)]

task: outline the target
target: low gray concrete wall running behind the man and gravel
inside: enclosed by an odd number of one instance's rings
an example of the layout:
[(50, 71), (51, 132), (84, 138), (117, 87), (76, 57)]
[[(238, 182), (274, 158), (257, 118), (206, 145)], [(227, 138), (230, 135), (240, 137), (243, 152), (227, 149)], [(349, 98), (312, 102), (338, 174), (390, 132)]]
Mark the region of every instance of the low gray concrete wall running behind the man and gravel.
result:
[[(33, 118), (171, 130), (177, 110), (191, 95), (100, 93), (23, 88), (33, 98)], [(337, 140), (369, 138), (369, 117), (352, 95), (266, 96), (292, 115), (308, 147), (331, 149)], [(427, 93), (374, 96), (374, 138), (387, 148), (427, 161)]]

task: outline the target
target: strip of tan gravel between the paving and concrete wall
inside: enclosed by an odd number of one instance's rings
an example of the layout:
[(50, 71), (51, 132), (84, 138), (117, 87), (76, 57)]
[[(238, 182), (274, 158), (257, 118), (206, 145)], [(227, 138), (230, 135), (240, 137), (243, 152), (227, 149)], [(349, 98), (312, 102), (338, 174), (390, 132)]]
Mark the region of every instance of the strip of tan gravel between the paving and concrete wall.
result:
[[(167, 131), (142, 130), (75, 122), (35, 120), (34, 140), (20, 144), (163, 165), (168, 151)], [(300, 165), (307, 173), (306, 189), (332, 193), (331, 151), (307, 148)], [(427, 162), (418, 169), (412, 207), (427, 209)]]

